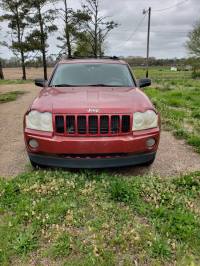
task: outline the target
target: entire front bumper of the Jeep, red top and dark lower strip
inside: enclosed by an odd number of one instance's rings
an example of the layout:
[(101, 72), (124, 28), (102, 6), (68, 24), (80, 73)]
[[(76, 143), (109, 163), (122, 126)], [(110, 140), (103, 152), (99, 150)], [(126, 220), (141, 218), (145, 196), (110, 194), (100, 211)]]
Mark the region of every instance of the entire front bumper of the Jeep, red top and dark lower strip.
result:
[[(138, 165), (153, 160), (159, 144), (160, 129), (113, 137), (63, 137), (26, 129), (24, 137), (30, 160), (35, 164), (65, 168), (107, 168)], [(155, 139), (155, 145), (151, 148), (147, 147), (149, 138)], [(29, 146), (31, 139), (37, 140), (37, 149)]]

